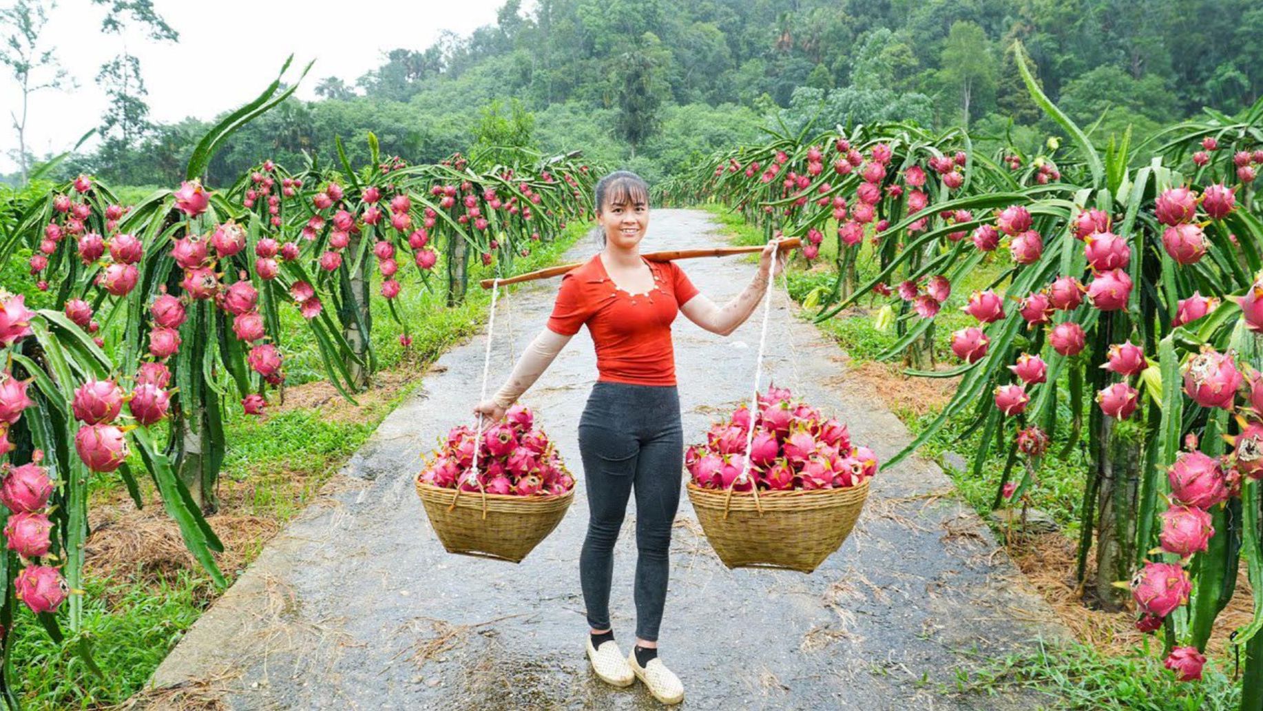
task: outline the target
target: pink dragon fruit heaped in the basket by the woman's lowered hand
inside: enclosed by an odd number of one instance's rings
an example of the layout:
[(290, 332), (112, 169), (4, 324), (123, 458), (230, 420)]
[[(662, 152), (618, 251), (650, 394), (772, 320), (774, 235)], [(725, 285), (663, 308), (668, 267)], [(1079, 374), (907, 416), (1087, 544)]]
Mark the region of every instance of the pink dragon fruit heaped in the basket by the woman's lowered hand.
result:
[[(536, 427), (530, 408), (514, 405), (504, 418), (482, 429), (453, 427), (426, 460), (421, 481), (442, 489), (486, 491), (506, 496), (560, 496), (575, 487), (575, 477), (562, 463), (557, 448)], [(467, 474), (477, 450), (477, 474)]]

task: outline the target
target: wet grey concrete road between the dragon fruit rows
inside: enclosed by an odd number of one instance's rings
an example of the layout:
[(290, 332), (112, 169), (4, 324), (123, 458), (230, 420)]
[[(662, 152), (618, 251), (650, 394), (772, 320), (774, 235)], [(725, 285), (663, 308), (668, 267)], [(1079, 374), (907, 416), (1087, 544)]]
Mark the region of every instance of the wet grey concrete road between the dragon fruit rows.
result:
[[(722, 242), (711, 230), (702, 212), (657, 210), (645, 249)], [(594, 251), (581, 244), (572, 256)], [(754, 273), (734, 258), (682, 265), (716, 302)], [(501, 302), (493, 388), (543, 327), (556, 288), (524, 285)], [(902, 423), (847, 383), (841, 351), (788, 318), (787, 304), (779, 293), (770, 375), (889, 457), (908, 441)], [(676, 322), (686, 442), (748, 398), (760, 313), (727, 338)], [(198, 688), (234, 708), (658, 707), (640, 684), (602, 684), (584, 655), (577, 561), (587, 504), (576, 424), (596, 378), (586, 330), (523, 398), (580, 480), (557, 530), (514, 566), (445, 553), (426, 520), (412, 484), (418, 456), (471, 421), (482, 349), (479, 337), (440, 359), (349, 462), (332, 501), (269, 543), (153, 684)], [(633, 522), (629, 513), (611, 600), (624, 652), (634, 629)], [(685, 707), (1026, 708), (1038, 700), (952, 695), (952, 669), (1062, 634), (1052, 619), (949, 479), (912, 458), (883, 470), (850, 539), (811, 576), (727, 571), (682, 496), (661, 643), (685, 682)]]

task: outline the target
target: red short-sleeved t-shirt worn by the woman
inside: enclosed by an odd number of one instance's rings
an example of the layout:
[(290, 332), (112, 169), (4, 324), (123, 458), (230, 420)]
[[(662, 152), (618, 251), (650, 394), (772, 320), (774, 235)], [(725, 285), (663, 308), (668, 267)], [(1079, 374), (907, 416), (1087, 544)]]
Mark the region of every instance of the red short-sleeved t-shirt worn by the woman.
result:
[(674, 385), (676, 354), (671, 322), (697, 288), (673, 261), (644, 260), (653, 272), (648, 294), (629, 294), (614, 285), (601, 255), (561, 279), (548, 328), (573, 336), (587, 325), (596, 345), (597, 380), (633, 385)]

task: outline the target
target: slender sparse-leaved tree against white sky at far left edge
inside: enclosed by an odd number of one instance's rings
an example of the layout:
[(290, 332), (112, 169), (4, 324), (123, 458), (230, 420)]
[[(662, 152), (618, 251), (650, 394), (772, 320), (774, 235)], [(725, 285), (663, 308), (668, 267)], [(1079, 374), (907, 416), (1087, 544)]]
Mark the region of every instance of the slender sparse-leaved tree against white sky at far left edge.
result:
[[(48, 9), (57, 5), (51, 3)], [(75, 81), (62, 68), (56, 48), (44, 48), (40, 34), (48, 24), (48, 14), (40, 0), (18, 0), (13, 8), (0, 10), (0, 29), (4, 32), (4, 47), (0, 48), (0, 62), (13, 72), (13, 78), (21, 87), (20, 116), (9, 111), (13, 128), (18, 131), (18, 164), (21, 169), (21, 182), (27, 183), (30, 167), (30, 154), (27, 152), (27, 114), (30, 96), (45, 88), (67, 88)]]

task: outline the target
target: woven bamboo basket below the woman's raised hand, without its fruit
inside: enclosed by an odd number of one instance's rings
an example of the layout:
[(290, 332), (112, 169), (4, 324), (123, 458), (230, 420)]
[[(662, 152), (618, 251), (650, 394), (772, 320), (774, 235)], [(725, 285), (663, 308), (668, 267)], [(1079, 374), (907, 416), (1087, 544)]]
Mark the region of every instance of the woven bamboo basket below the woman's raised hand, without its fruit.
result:
[[(810, 573), (837, 551), (859, 519), (869, 480), (845, 489), (760, 491), (702, 489), (688, 499), (719, 559), (731, 568), (783, 568)], [(760, 513), (762, 509), (762, 513)]]

